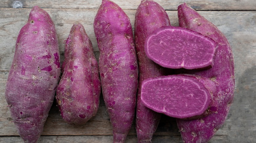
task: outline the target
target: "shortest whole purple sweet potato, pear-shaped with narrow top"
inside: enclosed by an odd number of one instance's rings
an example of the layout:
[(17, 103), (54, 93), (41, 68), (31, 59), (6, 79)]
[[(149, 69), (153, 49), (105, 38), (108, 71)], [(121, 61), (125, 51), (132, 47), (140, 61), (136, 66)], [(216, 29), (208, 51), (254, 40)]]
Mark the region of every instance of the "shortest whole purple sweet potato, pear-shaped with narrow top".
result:
[(98, 111), (101, 86), (93, 45), (82, 24), (71, 28), (64, 61), (56, 91), (58, 108), (67, 123), (85, 124)]

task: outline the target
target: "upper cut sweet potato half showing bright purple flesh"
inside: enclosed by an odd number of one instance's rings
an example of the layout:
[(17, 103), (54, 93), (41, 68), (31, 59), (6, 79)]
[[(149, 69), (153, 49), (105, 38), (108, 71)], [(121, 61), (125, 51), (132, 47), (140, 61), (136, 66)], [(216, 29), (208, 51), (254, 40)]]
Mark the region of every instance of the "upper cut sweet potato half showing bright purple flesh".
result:
[(149, 59), (165, 68), (205, 69), (214, 64), (218, 44), (187, 28), (164, 26), (145, 41)]

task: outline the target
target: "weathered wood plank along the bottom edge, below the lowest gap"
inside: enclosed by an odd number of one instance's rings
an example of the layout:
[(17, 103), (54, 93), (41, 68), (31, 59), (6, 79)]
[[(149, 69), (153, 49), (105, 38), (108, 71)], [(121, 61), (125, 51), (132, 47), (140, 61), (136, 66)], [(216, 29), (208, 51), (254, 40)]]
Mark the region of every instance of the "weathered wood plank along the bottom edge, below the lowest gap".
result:
[[(0, 138), (0, 143), (23, 143), (19, 136), (4, 136)], [(111, 143), (113, 142), (112, 135), (79, 135), (79, 136), (40, 136), (38, 143)], [(125, 143), (136, 143), (137, 136), (128, 135)], [(177, 135), (154, 135), (153, 143), (181, 143), (181, 136)], [(216, 135), (208, 143), (228, 143), (226, 135)]]

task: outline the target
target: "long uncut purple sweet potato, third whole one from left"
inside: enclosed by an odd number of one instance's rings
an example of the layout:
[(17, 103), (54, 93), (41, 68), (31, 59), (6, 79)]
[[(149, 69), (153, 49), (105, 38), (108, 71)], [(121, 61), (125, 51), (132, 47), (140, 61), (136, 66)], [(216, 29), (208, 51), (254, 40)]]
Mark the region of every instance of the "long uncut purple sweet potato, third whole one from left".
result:
[(124, 142), (135, 115), (138, 63), (129, 17), (115, 3), (102, 0), (94, 21), (103, 98), (114, 142)]

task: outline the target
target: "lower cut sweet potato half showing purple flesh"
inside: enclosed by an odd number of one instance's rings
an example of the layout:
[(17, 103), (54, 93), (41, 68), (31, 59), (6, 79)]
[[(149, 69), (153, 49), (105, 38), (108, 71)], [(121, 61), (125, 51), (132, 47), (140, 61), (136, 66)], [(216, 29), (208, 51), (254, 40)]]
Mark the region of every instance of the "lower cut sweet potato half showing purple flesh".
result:
[(159, 76), (142, 82), (141, 102), (170, 117), (200, 118), (207, 109), (214, 109), (210, 102), (215, 90), (213, 81), (207, 78), (185, 74)]

